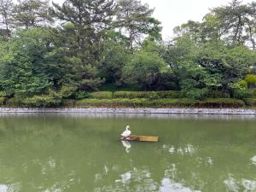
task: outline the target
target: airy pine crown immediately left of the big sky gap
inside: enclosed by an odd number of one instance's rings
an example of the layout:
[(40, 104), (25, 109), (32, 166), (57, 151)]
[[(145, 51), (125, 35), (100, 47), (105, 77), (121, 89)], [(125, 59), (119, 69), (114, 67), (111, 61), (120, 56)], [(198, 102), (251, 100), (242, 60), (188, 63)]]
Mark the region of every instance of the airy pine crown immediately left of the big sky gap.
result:
[(143, 35), (160, 38), (160, 21), (154, 19), (154, 9), (138, 0), (119, 0), (116, 26), (129, 38), (128, 47), (140, 44)]

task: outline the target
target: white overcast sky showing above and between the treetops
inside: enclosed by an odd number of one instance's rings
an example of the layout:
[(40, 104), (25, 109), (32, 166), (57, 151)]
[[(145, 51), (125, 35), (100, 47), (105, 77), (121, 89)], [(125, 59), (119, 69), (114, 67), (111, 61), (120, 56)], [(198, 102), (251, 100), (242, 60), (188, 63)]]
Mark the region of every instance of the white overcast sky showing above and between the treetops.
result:
[[(54, 0), (63, 2), (64, 0)], [(172, 29), (188, 20), (201, 21), (209, 9), (225, 5), (231, 0), (141, 0), (154, 8), (154, 17), (161, 21), (163, 26), (163, 37), (172, 37)], [(251, 3), (253, 0), (243, 0)]]

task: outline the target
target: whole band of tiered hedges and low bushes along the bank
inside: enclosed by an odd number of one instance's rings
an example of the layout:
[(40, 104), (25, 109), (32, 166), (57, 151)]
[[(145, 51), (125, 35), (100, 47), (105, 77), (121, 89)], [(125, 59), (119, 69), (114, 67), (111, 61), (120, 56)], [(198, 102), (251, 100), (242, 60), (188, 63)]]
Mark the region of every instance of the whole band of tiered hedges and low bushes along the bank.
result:
[[(69, 94), (68, 90), (48, 95), (22, 98), (2, 93), (2, 108), (254, 108), (256, 96), (236, 98), (185, 97), (183, 91), (98, 91)], [(213, 95), (214, 96), (214, 95)], [(215, 94), (215, 96), (221, 96)], [(79, 97), (79, 98), (78, 98)]]

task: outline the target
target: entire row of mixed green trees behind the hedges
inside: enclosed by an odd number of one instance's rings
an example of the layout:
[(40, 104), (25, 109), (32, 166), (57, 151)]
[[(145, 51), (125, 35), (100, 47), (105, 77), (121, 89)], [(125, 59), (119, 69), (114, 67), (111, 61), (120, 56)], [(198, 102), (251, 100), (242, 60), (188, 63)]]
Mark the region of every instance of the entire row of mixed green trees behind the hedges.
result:
[(0, 90), (73, 95), (138, 84), (201, 97), (255, 86), (256, 3), (212, 9), (177, 26), (170, 42), (153, 13), (138, 0), (1, 0)]

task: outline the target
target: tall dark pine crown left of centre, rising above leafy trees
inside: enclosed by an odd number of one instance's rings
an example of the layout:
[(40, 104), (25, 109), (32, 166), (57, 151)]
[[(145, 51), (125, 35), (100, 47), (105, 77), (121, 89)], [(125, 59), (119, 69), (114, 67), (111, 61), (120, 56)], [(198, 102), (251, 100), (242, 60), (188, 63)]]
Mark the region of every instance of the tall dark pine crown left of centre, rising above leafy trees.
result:
[[(55, 16), (73, 26), (76, 50), (82, 61), (97, 59), (96, 49), (102, 39), (103, 30), (112, 21), (113, 0), (67, 0), (62, 6), (53, 3)], [(86, 55), (95, 55), (92, 61)]]

